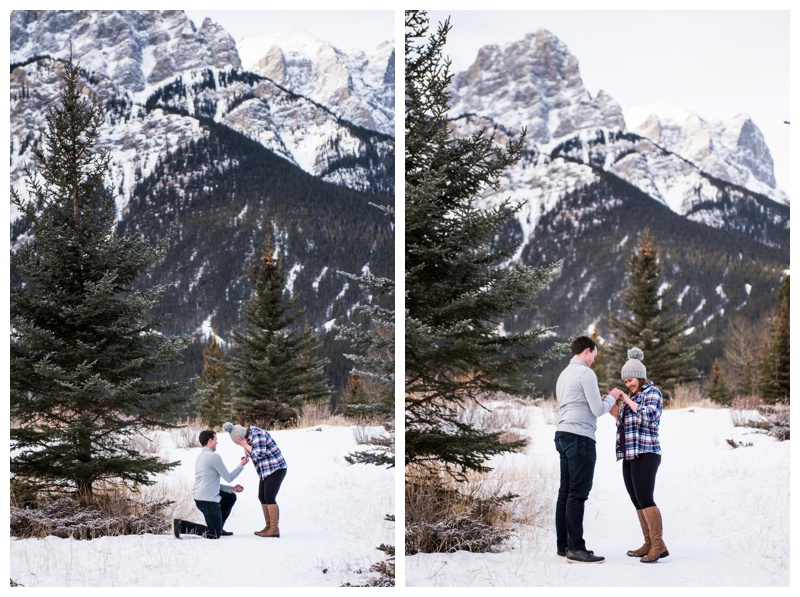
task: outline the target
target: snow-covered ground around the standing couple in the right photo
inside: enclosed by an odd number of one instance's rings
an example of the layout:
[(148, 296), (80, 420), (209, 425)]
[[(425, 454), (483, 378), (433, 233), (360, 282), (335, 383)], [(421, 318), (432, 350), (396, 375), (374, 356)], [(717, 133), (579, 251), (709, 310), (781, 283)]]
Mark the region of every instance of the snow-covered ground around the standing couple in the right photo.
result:
[[(525, 407), (531, 444), (493, 461), (509, 479), (543, 475), (541, 521), (519, 526), (495, 553), (416, 554), (405, 559), (411, 587), (789, 587), (789, 448), (753, 429), (734, 427), (731, 411), (664, 411), (656, 503), (669, 557), (642, 564), (628, 557), (642, 535), (614, 456), (614, 420), (598, 421), (598, 460), (586, 504), (584, 537), (601, 564), (570, 564), (556, 555), (552, 510), (558, 454), (552, 416)], [(748, 444), (732, 448), (726, 440)], [(508, 471), (517, 471), (510, 474)], [(513, 489), (513, 485), (510, 487)]]

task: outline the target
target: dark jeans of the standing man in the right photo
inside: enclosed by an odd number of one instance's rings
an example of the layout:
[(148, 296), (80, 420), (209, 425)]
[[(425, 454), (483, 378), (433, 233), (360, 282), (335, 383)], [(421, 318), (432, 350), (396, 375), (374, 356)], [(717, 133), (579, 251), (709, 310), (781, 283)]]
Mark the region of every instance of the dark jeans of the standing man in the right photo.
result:
[(556, 450), (561, 456), (561, 485), (556, 501), (556, 547), (586, 549), (583, 511), (592, 489), (597, 461), (595, 441), (583, 435), (556, 431)]

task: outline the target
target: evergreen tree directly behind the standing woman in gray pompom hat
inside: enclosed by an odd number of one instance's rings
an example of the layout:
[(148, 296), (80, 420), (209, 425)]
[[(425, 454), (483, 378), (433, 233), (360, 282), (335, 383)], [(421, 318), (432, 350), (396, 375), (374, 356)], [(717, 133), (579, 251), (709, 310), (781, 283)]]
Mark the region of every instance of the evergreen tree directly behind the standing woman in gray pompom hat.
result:
[(662, 287), (663, 267), (649, 230), (645, 229), (628, 267), (622, 313), (610, 317), (614, 339), (609, 357), (621, 369), (628, 349), (639, 347), (645, 354), (647, 376), (668, 398), (677, 384), (699, 379), (692, 365), (697, 347), (689, 344), (686, 321), (673, 312), (677, 300), (668, 298), (670, 287)]

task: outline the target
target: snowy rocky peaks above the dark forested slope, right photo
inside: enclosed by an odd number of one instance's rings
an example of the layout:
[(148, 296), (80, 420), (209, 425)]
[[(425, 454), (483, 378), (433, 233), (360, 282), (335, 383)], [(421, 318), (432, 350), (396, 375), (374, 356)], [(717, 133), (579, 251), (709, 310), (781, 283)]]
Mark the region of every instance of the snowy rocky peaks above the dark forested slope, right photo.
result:
[(747, 116), (709, 123), (665, 106), (623, 113), (603, 91), (592, 97), (577, 59), (545, 29), (485, 46), (467, 71), (454, 76), (451, 91), (450, 117), (464, 131), (488, 126), (502, 141), (527, 130), (530, 157), (507, 173), (499, 195), (529, 202), (529, 226), (560, 194), (596, 180), (595, 168), (712, 225), (717, 217), (695, 209), (717, 200), (710, 179), (786, 199), (775, 185), (764, 137)]

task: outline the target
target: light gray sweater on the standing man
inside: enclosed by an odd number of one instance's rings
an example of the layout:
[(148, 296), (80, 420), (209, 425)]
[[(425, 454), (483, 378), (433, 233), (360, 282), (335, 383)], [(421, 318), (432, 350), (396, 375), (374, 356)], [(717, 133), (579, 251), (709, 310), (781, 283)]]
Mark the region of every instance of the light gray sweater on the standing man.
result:
[(600, 396), (597, 375), (580, 359), (573, 358), (556, 382), (558, 425), (556, 431), (566, 431), (595, 439), (597, 417), (614, 406), (614, 398)]

